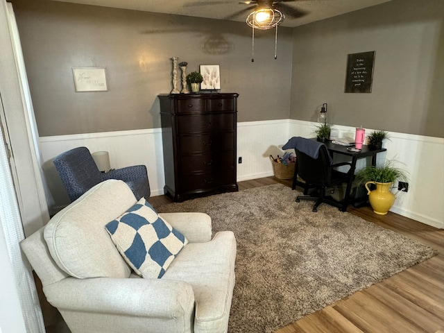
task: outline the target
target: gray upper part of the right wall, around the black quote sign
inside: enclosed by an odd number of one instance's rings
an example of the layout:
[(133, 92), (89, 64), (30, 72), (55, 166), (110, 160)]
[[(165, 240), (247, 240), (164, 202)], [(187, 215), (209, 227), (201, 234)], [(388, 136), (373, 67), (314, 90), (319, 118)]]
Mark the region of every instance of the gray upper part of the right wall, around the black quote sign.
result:
[[(348, 53), (375, 51), (370, 94), (346, 94)], [(293, 33), (291, 119), (444, 137), (444, 1), (393, 0)]]

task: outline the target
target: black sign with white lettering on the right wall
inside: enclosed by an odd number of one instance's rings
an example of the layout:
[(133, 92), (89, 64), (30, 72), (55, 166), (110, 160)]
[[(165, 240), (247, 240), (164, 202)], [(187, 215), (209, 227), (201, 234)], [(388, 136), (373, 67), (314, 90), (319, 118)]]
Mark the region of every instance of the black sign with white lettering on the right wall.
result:
[(375, 51), (349, 54), (345, 92), (372, 92), (374, 64)]

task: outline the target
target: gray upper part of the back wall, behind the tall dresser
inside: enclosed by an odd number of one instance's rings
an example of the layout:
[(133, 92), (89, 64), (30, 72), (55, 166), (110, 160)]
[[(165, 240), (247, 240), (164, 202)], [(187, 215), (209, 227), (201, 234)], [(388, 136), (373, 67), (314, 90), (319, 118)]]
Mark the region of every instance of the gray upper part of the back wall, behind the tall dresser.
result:
[[(238, 120), (288, 119), (291, 28), (255, 34), (241, 22), (57, 1), (11, 1), (40, 136), (160, 127), (157, 94), (171, 91), (172, 56), (220, 65), (221, 92), (238, 92)], [(108, 92), (74, 90), (72, 67), (106, 67)], [(179, 71), (180, 72), (180, 71)], [(181, 88), (181, 84), (178, 83)]]

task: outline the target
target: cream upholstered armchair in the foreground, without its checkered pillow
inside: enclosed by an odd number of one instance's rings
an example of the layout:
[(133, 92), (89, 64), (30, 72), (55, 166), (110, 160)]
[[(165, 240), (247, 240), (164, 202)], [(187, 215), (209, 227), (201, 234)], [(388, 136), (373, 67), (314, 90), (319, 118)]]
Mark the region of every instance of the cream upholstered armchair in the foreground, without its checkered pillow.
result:
[(162, 278), (139, 278), (105, 231), (106, 223), (135, 203), (128, 185), (107, 180), (56, 214), (46, 232), (42, 228), (22, 241), (46, 299), (73, 333), (227, 332), (236, 256), (232, 232), (212, 238), (207, 214), (160, 214), (189, 243)]

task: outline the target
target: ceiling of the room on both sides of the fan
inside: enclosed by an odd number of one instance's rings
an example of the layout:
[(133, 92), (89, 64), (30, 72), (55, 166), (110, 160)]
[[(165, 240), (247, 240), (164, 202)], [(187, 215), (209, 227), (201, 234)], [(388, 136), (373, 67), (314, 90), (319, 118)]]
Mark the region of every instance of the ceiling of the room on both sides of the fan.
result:
[[(54, 0), (85, 5), (142, 10), (146, 12), (162, 12), (165, 14), (185, 15), (192, 17), (207, 17), (209, 19), (226, 19), (248, 5), (239, 3), (240, 0), (225, 1), (189, 1), (189, 0)], [(285, 0), (285, 4), (307, 14), (298, 19), (284, 20), (282, 26), (300, 26), (310, 22), (320, 21), (337, 15), (352, 12), (361, 8), (378, 5), (391, 0)], [(253, 11), (253, 10), (252, 10)], [(246, 14), (230, 18), (232, 21), (243, 22)]]

